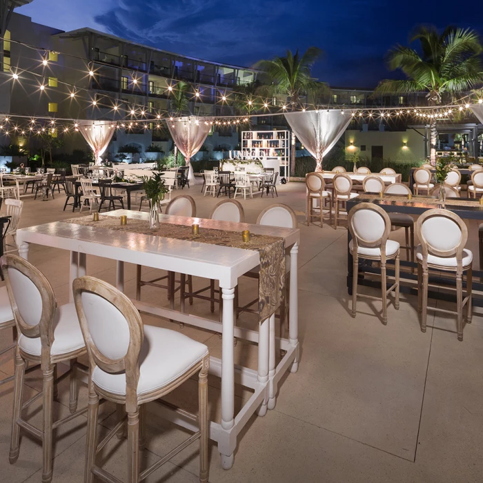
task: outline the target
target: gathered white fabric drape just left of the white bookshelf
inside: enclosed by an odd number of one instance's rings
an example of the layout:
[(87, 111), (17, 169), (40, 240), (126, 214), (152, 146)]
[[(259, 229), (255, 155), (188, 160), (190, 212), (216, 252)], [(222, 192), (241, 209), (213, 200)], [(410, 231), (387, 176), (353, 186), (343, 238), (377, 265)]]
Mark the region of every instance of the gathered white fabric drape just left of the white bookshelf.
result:
[(190, 159), (201, 149), (203, 143), (210, 132), (210, 124), (201, 117), (177, 117), (168, 121), (168, 129), (173, 141), (186, 159), (189, 166), (188, 181), (195, 183), (195, 175)]

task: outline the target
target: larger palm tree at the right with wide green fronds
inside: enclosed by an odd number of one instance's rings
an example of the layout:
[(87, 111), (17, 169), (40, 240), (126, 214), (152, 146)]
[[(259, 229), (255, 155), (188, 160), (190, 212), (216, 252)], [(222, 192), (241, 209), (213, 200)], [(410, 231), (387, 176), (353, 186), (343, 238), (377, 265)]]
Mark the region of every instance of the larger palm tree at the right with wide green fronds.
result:
[[(469, 28), (446, 27), (440, 34), (433, 26), (417, 27), (409, 39), (420, 41), (420, 52), (409, 47), (396, 46), (387, 55), (388, 68), (400, 69), (406, 79), (384, 80), (375, 89), (377, 94), (406, 94), (428, 92), (431, 106), (442, 100), (483, 84), (483, 51), (480, 37)], [(431, 164), (436, 162), (436, 118), (430, 121)]]

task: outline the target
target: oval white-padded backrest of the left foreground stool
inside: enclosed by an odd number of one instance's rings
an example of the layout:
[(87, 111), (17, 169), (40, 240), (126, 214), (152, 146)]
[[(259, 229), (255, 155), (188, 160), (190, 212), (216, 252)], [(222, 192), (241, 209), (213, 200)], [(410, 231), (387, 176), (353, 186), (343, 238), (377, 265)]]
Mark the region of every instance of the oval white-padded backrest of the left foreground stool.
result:
[(18, 330), (40, 337), (41, 356), (50, 355), (54, 342), (55, 295), (40, 270), (17, 255), (3, 255), (0, 265)]

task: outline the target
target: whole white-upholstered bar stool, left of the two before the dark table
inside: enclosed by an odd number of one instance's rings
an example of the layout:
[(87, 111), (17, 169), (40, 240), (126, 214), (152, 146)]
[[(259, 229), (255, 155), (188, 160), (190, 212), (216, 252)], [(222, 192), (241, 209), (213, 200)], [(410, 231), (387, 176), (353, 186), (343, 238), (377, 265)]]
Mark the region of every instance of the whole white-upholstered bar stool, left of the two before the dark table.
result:
[[(359, 275), (359, 258), (375, 260), (381, 263), (382, 297), (359, 295), (372, 300), (382, 300), (382, 323), (387, 324), (387, 295), (394, 291), (396, 310), (400, 301), (400, 244), (388, 239), (391, 231), (391, 220), (388, 214), (372, 203), (361, 203), (354, 206), (348, 214), (348, 228), (352, 239), (349, 251), (353, 256), (353, 288), (352, 316), (355, 317), (357, 304), (357, 277)], [(395, 283), (387, 288), (386, 262), (395, 260)], [(391, 277), (392, 278), (392, 277)]]

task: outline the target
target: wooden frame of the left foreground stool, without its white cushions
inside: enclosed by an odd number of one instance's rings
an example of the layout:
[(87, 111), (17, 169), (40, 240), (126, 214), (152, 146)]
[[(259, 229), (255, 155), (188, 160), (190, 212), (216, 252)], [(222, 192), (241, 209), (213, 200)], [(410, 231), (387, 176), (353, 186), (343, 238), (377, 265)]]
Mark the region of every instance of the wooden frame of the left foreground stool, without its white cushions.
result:
[[(26, 337), (40, 337), (41, 355), (32, 355), (21, 350), (17, 343), (15, 348), (15, 370), (14, 370), (14, 408), (12, 417), (12, 440), (10, 443), (9, 461), (13, 464), (17, 461), (20, 451), (20, 429), (27, 431), (30, 435), (37, 437), (42, 442), (43, 450), (43, 466), (42, 466), (42, 482), (48, 483), (52, 480), (52, 444), (53, 430), (61, 424), (66, 423), (75, 417), (85, 413), (86, 408), (77, 411), (77, 368), (82, 368), (77, 364), (77, 357), (86, 353), (86, 348), (79, 348), (75, 351), (63, 353), (59, 355), (51, 355), (50, 349), (54, 342), (54, 319), (57, 302), (55, 301), (54, 290), (46, 279), (46, 277), (37, 268), (26, 262), (23, 258), (16, 255), (4, 255), (0, 259), (1, 268), (5, 277), (8, 290), (8, 297), (12, 305), (17, 331)], [(39, 290), (42, 301), (42, 312), (39, 324), (30, 326), (22, 319), (17, 302), (15, 301), (12, 287), (10, 285), (10, 277), (8, 267), (19, 270), (20, 273), (28, 277)], [(26, 362), (32, 363), (34, 366), (40, 364), (42, 371), (42, 392), (32, 397), (27, 402), (23, 400), (23, 380), (26, 374)], [(59, 362), (69, 362), (70, 370), (57, 378), (56, 364)], [(63, 417), (61, 420), (53, 421), (53, 398), (55, 386), (61, 380), (70, 376), (70, 415)], [(21, 412), (34, 401), (42, 398), (43, 401), (43, 427), (42, 429), (32, 426), (28, 421), (23, 420)]]

